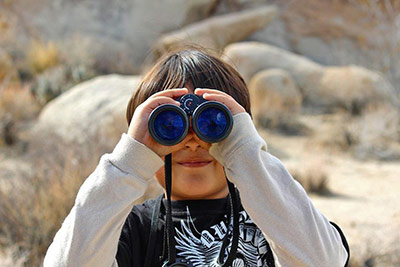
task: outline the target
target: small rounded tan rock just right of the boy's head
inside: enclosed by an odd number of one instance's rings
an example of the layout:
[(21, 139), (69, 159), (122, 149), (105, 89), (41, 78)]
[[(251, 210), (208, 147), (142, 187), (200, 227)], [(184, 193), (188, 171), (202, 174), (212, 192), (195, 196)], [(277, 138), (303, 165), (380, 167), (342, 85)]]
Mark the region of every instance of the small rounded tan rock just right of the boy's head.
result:
[(290, 74), (281, 69), (258, 72), (249, 83), (252, 113), (296, 114), (301, 111), (302, 95)]

